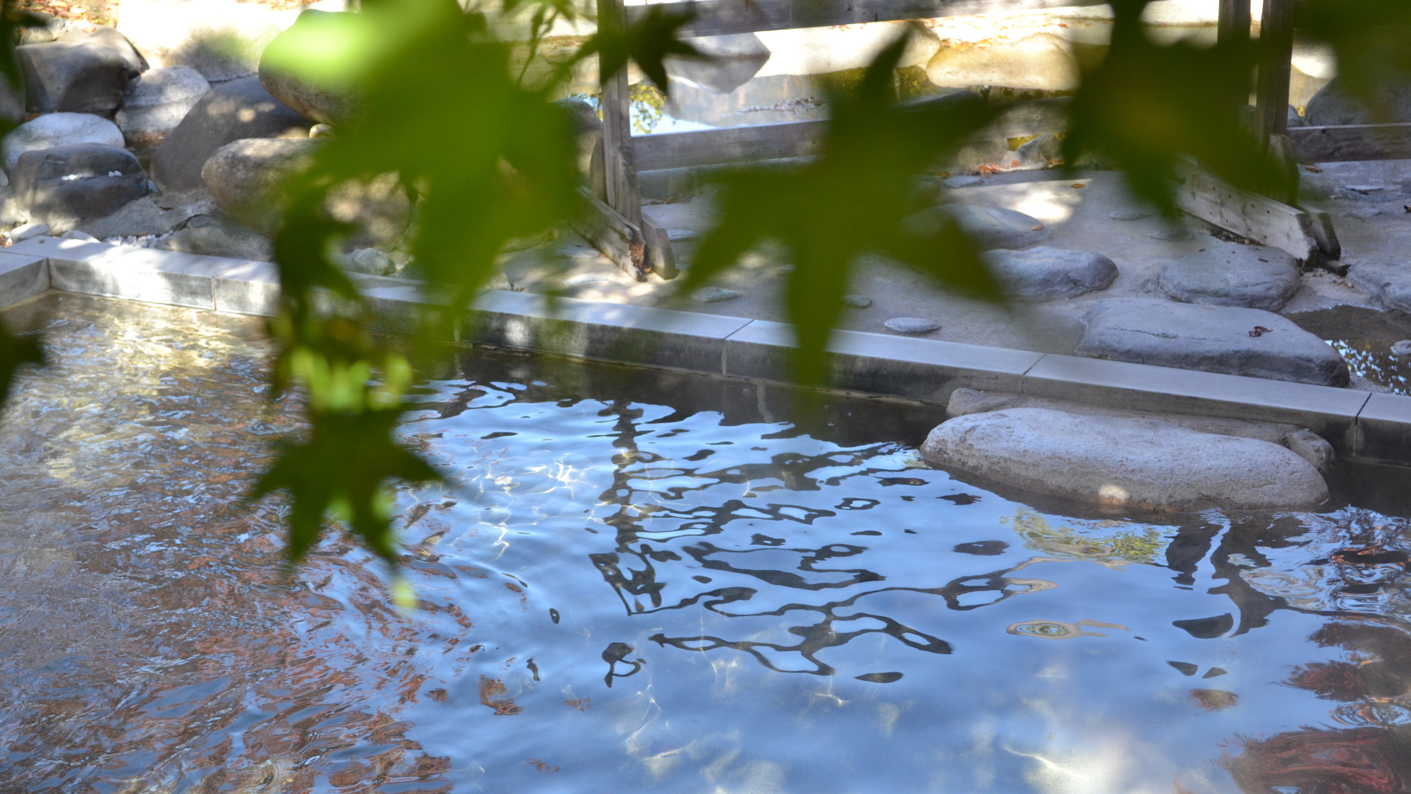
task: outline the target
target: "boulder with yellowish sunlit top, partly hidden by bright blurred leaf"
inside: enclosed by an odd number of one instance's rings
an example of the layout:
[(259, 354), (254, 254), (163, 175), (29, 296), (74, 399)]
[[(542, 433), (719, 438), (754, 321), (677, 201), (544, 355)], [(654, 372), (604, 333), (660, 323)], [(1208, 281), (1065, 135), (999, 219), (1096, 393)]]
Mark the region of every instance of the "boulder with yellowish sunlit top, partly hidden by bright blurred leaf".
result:
[(313, 83), (293, 75), (284, 65), (298, 62), (299, 51), (308, 47), (310, 31), (320, 27), (340, 27), (344, 18), (357, 18), (357, 14), (305, 11), (299, 16), (299, 21), (277, 35), (260, 56), (260, 83), (265, 90), (303, 116), (333, 127), (361, 116), (361, 94), (347, 85)]

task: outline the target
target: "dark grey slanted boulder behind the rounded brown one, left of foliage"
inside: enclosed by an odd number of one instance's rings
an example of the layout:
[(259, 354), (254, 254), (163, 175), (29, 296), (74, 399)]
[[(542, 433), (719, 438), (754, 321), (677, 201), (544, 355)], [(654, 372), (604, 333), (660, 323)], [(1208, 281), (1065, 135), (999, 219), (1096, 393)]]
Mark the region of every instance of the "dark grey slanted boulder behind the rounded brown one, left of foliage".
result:
[(244, 78), (203, 94), (152, 155), (152, 179), (164, 190), (202, 186), (200, 169), (216, 149), (243, 138), (308, 138), (313, 123)]

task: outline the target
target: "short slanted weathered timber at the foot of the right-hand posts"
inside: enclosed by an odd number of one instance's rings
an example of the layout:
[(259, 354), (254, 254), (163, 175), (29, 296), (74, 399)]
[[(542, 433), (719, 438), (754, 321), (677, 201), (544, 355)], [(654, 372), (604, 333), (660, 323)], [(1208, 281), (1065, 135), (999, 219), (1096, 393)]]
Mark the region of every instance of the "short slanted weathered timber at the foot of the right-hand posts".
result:
[[(1288, 251), (1300, 264), (1315, 265), (1324, 258), (1336, 259), (1340, 255), (1331, 223), (1318, 223), (1315, 227), (1314, 217), (1307, 212), (1268, 196), (1240, 190), (1194, 164), (1187, 164), (1184, 171), (1175, 203), (1192, 216), (1260, 245)], [(1321, 245), (1319, 237), (1326, 243)]]

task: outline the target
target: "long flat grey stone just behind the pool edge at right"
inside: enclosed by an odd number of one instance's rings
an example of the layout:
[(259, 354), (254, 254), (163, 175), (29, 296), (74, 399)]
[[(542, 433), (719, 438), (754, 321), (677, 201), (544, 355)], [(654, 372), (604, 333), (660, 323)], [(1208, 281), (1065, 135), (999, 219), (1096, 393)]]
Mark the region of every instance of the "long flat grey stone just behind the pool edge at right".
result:
[(1348, 362), (1316, 336), (1273, 312), (1112, 298), (1082, 317), (1074, 355), (1250, 378), (1346, 386)]

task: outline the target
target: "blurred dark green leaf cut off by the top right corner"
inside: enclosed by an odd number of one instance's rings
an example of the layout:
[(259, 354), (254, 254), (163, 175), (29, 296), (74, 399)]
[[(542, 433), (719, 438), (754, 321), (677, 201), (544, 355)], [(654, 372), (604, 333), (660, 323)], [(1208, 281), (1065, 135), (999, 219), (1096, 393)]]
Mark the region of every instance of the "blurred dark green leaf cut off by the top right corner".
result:
[(1332, 45), (1343, 92), (1374, 118), (1395, 120), (1388, 89), (1411, 82), (1411, 3), (1304, 0), (1294, 7), (1294, 25), (1301, 37)]

